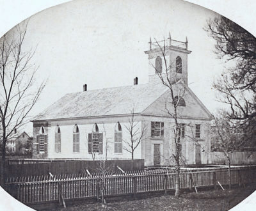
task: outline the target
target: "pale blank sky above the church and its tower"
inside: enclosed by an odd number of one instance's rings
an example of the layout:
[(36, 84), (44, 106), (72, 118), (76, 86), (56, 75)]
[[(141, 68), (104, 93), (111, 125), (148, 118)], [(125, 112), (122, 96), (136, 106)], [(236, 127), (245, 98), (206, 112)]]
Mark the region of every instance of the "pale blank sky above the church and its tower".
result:
[[(54, 1), (58, 3), (61, 0)], [(41, 6), (49, 4), (47, 0)], [(17, 8), (15, 4), (13, 10)], [(37, 46), (33, 61), (40, 66), (38, 80), (47, 79), (47, 86), (31, 116), (66, 93), (82, 91), (85, 83), (88, 90), (132, 85), (134, 77), (147, 83), (144, 51), (149, 37), (163, 40), (169, 32), (174, 40), (185, 42), (188, 37), (189, 87), (214, 113), (221, 105), (211, 84), (223, 70), (223, 61), (216, 59), (214, 40), (203, 28), (215, 15), (180, 0), (77, 0), (36, 13), (29, 20), (24, 47)], [(29, 124), (26, 130), (31, 129)]]

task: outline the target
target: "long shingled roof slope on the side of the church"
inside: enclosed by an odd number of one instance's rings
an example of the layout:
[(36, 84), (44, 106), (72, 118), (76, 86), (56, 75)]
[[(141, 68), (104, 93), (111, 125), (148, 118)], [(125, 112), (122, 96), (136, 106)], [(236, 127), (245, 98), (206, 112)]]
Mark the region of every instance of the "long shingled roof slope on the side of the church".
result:
[(141, 113), (166, 90), (161, 83), (148, 83), (68, 93), (33, 121)]

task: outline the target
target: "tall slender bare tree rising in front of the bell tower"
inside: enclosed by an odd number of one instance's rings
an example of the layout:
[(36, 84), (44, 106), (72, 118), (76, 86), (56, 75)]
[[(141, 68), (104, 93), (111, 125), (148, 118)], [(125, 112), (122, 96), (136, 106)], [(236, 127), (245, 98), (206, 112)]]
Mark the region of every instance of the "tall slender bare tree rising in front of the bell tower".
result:
[[(171, 39), (171, 38), (170, 38)], [(155, 39), (156, 40), (156, 39)], [(151, 43), (150, 43), (151, 44)], [(156, 74), (158, 75), (160, 81), (163, 83), (164, 86), (168, 88), (170, 91), (170, 96), (168, 99), (166, 99), (165, 103), (165, 109), (167, 113), (169, 114), (170, 118), (174, 120), (173, 123), (173, 139), (175, 143), (175, 152), (170, 156), (169, 160), (174, 160), (175, 162), (175, 196), (180, 196), (180, 159), (182, 158), (181, 153), (181, 125), (179, 121), (179, 106), (184, 103), (183, 97), (185, 94), (185, 84), (184, 84), (184, 78), (180, 75), (179, 68), (180, 65), (173, 65), (171, 61), (168, 61), (166, 59), (166, 43), (165, 40), (163, 40), (163, 45), (161, 45), (159, 42), (154, 43), (157, 45), (157, 47), (161, 51), (161, 57), (163, 58), (163, 64), (162, 63), (156, 63), (156, 66), (152, 65), (154, 69), (156, 70)], [(158, 66), (160, 66), (161, 71), (159, 71)], [(172, 140), (170, 140), (170, 143), (172, 143)]]

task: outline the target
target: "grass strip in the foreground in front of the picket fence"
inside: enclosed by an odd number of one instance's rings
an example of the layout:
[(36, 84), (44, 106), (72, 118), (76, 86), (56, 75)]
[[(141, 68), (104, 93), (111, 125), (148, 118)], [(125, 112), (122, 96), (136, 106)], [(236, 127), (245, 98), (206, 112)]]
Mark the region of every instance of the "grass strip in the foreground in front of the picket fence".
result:
[[(76, 205), (67, 205), (67, 208), (58, 210), (228, 210), (237, 203), (243, 201), (256, 189), (256, 184), (243, 187), (240, 189), (232, 189), (222, 191), (199, 191), (187, 192), (175, 198), (173, 195), (168, 196), (151, 196), (150, 198), (136, 200), (122, 200), (109, 202), (105, 208), (100, 203), (86, 204), (76, 203)], [(108, 199), (107, 199), (108, 202)]]

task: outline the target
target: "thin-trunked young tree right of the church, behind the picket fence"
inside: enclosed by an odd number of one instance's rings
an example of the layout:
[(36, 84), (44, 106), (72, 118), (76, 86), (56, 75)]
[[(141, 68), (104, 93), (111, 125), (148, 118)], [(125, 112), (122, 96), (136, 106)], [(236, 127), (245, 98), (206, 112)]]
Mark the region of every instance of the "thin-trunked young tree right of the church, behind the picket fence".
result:
[[(214, 116), (214, 127), (212, 127), (212, 148), (223, 152), (228, 160), (228, 186), (231, 188), (231, 161), (230, 153), (239, 150), (246, 143), (243, 129), (239, 129), (236, 123), (230, 121), (226, 114), (220, 113)], [(238, 125), (239, 126), (239, 125)]]

